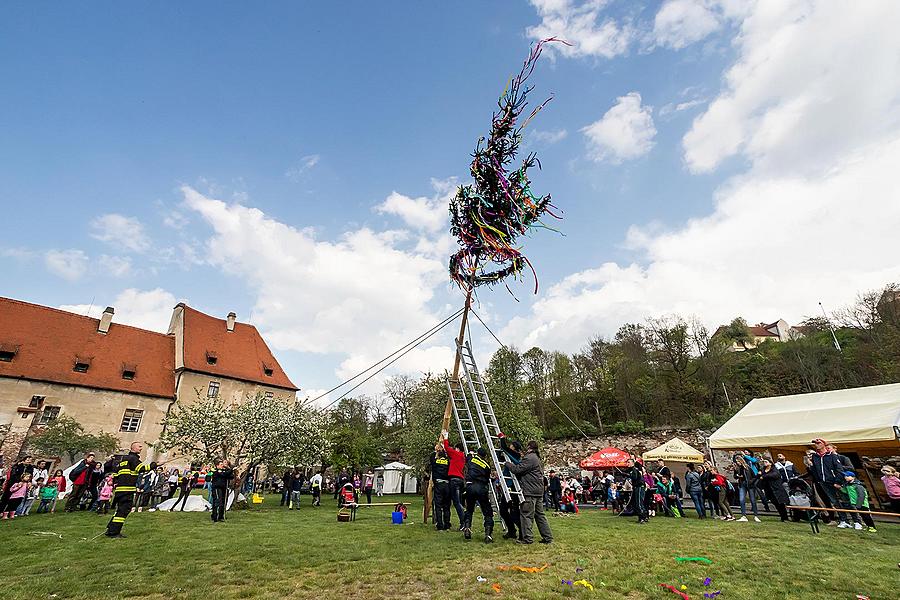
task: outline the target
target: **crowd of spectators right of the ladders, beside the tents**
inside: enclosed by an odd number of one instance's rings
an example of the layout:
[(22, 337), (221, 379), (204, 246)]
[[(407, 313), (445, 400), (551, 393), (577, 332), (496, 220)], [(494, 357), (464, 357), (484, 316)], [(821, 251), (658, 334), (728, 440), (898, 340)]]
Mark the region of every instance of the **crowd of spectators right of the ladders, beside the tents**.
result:
[[(579, 503), (602, 504), (601, 510), (611, 508), (622, 516), (636, 516), (639, 523), (653, 516), (684, 517), (683, 501), (687, 499), (697, 518), (723, 521), (752, 518), (759, 522), (760, 504), (765, 512), (774, 509), (781, 521), (808, 520), (813, 518), (813, 508), (825, 508), (830, 511), (823, 521), (842, 529), (875, 533), (875, 523), (867, 514), (870, 492), (850, 459), (825, 440), (813, 440), (811, 446), (804, 457), (803, 473), (783, 454), (773, 460), (748, 450), (734, 453), (721, 470), (709, 461), (687, 463), (684, 483), (665, 461), (649, 465), (636, 457), (624, 468), (600, 471), (593, 477), (567, 478), (551, 470), (545, 503), (563, 513), (579, 512)], [(889, 465), (881, 473), (891, 510), (900, 513), (898, 473)]]

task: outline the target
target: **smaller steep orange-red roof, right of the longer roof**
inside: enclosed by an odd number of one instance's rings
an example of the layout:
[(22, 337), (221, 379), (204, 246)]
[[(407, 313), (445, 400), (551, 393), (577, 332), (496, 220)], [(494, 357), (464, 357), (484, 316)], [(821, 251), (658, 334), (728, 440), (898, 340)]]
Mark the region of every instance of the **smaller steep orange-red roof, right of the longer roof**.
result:
[[(229, 332), (225, 319), (183, 306), (186, 369), (297, 391), (256, 327), (235, 323)], [(207, 355), (215, 357), (215, 364), (209, 364)], [(266, 375), (266, 369), (272, 374)]]

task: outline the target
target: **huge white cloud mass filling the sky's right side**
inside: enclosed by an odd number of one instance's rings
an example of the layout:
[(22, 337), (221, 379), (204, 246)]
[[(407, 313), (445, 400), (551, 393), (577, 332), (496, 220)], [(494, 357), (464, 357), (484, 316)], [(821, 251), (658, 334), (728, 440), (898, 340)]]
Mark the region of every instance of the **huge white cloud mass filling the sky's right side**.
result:
[[(711, 214), (634, 227), (628, 265), (551, 286), (501, 337), (575, 350), (625, 322), (680, 313), (714, 327), (817, 314), (900, 280), (900, 5), (758, 3), (725, 89), (685, 137), (688, 165), (746, 156)], [(865, 65), (861, 68), (860, 65)]]

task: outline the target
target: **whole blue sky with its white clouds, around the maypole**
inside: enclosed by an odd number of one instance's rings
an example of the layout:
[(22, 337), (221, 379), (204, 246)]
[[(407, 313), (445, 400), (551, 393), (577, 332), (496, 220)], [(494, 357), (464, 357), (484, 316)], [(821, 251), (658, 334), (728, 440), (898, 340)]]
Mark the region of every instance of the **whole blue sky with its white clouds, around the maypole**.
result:
[[(796, 321), (900, 277), (871, 259), (900, 223), (877, 170), (900, 122), (897, 10), (843, 10), (6, 4), (0, 293), (156, 329), (179, 300), (235, 310), (296, 383), (328, 388), (460, 304), (435, 219), (506, 78), (558, 35), (573, 46), (541, 59), (533, 99), (554, 100), (527, 144), (565, 236), (527, 241), (537, 296), (481, 292), (497, 331), (572, 351), (675, 312)], [(836, 237), (852, 251), (823, 255)], [(447, 337), (398, 369), (439, 369)]]

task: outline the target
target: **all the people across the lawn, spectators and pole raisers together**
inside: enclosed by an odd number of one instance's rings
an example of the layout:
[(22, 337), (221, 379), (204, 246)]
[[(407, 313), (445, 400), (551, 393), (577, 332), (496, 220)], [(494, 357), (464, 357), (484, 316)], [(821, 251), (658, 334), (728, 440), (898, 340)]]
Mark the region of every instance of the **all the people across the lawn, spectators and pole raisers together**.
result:
[[(616, 511), (620, 516), (634, 516), (638, 523), (656, 516), (685, 517), (688, 501), (699, 519), (743, 522), (760, 521), (760, 504), (765, 512), (774, 508), (781, 521), (809, 520), (814, 517), (813, 508), (822, 508), (828, 509), (822, 514), (824, 522), (833, 522), (841, 529), (876, 532), (867, 513), (870, 491), (850, 459), (820, 438), (813, 440), (805, 453), (802, 473), (783, 454), (772, 459), (744, 450), (734, 453), (721, 469), (709, 461), (687, 463), (683, 482), (664, 461), (650, 465), (637, 457), (624, 468), (595, 472), (590, 477), (567, 477), (553, 469), (545, 476), (536, 442), (523, 447), (501, 434), (500, 446), (506, 462), (497, 473), (484, 448), (466, 454), (461, 445), (450, 445), (447, 432), (442, 433), (429, 473), (439, 531), (451, 529), (452, 508), (458, 530), (465, 539), (471, 539), (477, 507), (484, 517), (485, 542), (493, 542), (493, 494), (507, 531), (504, 537), (523, 544), (535, 541), (535, 524), (540, 541), (552, 542), (544, 509), (557, 514), (578, 513), (579, 505), (585, 504)], [(50, 461), (34, 463), (31, 456), (25, 456), (0, 472), (0, 518), (54, 513), (64, 495), (61, 506), (65, 512), (105, 515), (114, 511), (108, 534), (118, 537), (128, 513), (159, 507), (171, 499), (175, 500), (168, 510), (184, 510), (192, 490), (203, 488), (212, 506), (212, 520), (224, 520), (226, 491), (237, 479), (228, 461), (217, 461), (208, 468), (192, 465), (166, 469), (142, 463), (141, 449), (141, 444), (135, 443), (130, 452), (105, 462), (88, 452), (66, 475)], [(890, 510), (900, 513), (900, 476), (890, 465), (885, 465), (881, 474)], [(521, 496), (507, 498), (502, 482), (513, 477), (518, 480)], [(247, 491), (280, 493), (281, 505), (294, 510), (299, 508), (303, 494), (311, 495), (312, 506), (319, 506), (323, 490), (333, 493), (339, 506), (359, 503), (362, 496), (371, 504), (373, 494), (378, 497), (384, 493), (384, 475), (371, 468), (365, 472), (343, 469), (332, 478), (324, 470), (293, 468), (258, 485), (248, 476), (245, 485), (249, 486)]]

